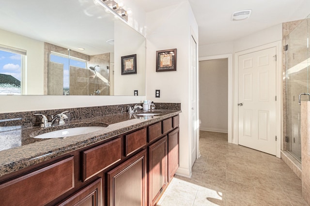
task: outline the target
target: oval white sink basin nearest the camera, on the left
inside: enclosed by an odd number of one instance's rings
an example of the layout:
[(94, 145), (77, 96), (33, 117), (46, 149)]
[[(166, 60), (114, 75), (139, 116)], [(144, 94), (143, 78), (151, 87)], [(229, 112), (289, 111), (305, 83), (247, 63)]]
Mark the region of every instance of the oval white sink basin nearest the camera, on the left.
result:
[(62, 130), (40, 134), (40, 135), (34, 136), (33, 138), (47, 139), (47, 138), (69, 137), (69, 136), (75, 136), (79, 134), (86, 134), (89, 132), (96, 132), (99, 130), (103, 130), (105, 128), (106, 127), (101, 127), (101, 126), (67, 128), (67, 129), (62, 129)]

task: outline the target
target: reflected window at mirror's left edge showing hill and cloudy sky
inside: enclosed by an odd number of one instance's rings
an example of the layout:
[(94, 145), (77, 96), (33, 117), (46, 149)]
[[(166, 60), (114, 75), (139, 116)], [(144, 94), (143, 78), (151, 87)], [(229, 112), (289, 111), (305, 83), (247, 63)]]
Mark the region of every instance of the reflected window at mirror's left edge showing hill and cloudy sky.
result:
[(0, 45), (0, 94), (22, 94), (25, 56), (25, 50)]

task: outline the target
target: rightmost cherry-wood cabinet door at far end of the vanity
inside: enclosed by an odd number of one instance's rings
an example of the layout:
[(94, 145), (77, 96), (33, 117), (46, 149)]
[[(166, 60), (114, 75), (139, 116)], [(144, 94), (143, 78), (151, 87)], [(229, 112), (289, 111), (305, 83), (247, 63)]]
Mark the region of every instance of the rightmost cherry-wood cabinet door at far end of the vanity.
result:
[(179, 168), (179, 128), (168, 134), (168, 176), (169, 182)]

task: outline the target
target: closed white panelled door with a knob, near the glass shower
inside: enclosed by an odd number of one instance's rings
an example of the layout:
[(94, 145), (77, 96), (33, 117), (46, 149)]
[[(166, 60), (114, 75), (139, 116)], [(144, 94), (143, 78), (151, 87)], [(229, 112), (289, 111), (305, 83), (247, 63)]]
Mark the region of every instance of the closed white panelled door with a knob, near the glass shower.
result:
[(276, 155), (276, 47), (238, 57), (239, 145)]

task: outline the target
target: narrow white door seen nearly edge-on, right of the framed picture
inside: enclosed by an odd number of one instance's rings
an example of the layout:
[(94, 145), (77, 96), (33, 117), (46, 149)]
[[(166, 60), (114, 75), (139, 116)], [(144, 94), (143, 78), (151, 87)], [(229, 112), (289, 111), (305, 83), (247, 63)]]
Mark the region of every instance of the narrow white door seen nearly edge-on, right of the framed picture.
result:
[(191, 117), (192, 117), (192, 139), (191, 139), (191, 166), (197, 159), (197, 108), (196, 108), (196, 70), (197, 70), (197, 44), (194, 38), (191, 38)]

